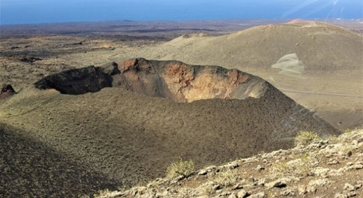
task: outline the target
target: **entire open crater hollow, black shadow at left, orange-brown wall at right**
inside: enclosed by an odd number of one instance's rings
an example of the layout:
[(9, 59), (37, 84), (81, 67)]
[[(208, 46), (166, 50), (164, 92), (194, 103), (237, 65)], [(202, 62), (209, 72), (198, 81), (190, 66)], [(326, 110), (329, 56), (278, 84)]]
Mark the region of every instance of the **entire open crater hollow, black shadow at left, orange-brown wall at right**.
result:
[(187, 65), (179, 61), (135, 58), (119, 64), (93, 65), (47, 76), (35, 83), (38, 89), (80, 95), (105, 87), (119, 87), (150, 97), (176, 102), (199, 99), (260, 98), (265, 81), (237, 69)]

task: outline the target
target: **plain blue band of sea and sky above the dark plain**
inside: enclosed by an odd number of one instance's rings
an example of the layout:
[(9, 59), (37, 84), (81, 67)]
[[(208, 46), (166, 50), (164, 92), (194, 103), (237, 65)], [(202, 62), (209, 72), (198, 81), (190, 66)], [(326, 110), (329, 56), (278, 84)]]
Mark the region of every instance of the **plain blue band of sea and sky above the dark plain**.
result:
[(363, 18), (363, 0), (0, 0), (0, 24)]

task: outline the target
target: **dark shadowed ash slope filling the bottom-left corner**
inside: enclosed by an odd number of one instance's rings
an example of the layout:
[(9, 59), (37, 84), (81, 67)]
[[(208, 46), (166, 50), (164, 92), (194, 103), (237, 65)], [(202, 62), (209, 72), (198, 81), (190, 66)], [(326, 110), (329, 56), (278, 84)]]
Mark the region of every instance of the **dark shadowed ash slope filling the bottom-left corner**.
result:
[(117, 189), (116, 181), (24, 133), (0, 124), (0, 197), (67, 198)]

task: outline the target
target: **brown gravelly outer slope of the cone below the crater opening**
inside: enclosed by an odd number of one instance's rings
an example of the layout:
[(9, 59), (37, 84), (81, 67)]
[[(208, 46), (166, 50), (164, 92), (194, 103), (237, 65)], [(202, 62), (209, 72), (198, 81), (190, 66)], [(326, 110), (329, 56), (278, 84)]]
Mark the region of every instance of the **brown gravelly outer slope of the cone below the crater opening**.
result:
[[(154, 65), (165, 63), (152, 62)], [(101, 70), (89, 69), (95, 71), (98, 77), (102, 76), (99, 75)], [(61, 75), (67, 73), (69, 71)], [(98, 80), (97, 75), (87, 76), (87, 79)], [(89, 177), (100, 177), (106, 181), (104, 184), (116, 181), (122, 187), (161, 177), (165, 168), (180, 158), (191, 159), (197, 167), (202, 167), (248, 157), (261, 150), (267, 152), (291, 148), (293, 138), (300, 130), (315, 131), (322, 136), (339, 134), (313, 112), (271, 84), (259, 80), (264, 92), (258, 98), (201, 99), (192, 102), (149, 97), (118, 87), (67, 95), (49, 87), (40, 90), (32, 85), (1, 101), (0, 122), (17, 129), (18, 135), (10, 136), (13, 144), (24, 144), (22, 138), (36, 140), (36, 143), (44, 145), (43, 149), (49, 148), (59, 154), (59, 158), (64, 157), (75, 163), (71, 171), (81, 173), (81, 170), (89, 170)], [(88, 81), (80, 78), (77, 82)], [(2, 150), (5, 153), (8, 151), (5, 148)], [(24, 159), (32, 152), (15, 155), (12, 158), (15, 162), (10, 163), (16, 163), (17, 157)], [(45, 151), (40, 149), (40, 152)], [(15, 165), (9, 166), (15, 168)], [(24, 168), (35, 176), (39, 175), (34, 180), (49, 182), (50, 177), (35, 173), (57, 166), (53, 165), (52, 160), (46, 160), (40, 167), (22, 164), (19, 169)], [(10, 172), (7, 180), (17, 178), (17, 170)], [(55, 172), (52, 177), (57, 174), (60, 173)], [(71, 176), (64, 177), (69, 184), (77, 183), (77, 175)], [(90, 191), (97, 191), (99, 187), (91, 184)], [(71, 186), (83, 191), (77, 185)], [(37, 188), (42, 189), (43, 186), (34, 187)], [(10, 189), (6, 191), (11, 192)], [(51, 193), (44, 192), (48, 195)]]

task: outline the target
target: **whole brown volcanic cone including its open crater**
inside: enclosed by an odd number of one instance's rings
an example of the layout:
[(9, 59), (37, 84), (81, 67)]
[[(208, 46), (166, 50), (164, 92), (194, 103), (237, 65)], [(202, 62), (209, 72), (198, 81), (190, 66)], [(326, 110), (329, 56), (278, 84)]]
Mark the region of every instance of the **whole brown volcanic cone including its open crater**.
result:
[(105, 185), (162, 176), (180, 158), (202, 167), (291, 148), (301, 130), (339, 134), (259, 77), (143, 58), (47, 76), (2, 100), (0, 109), (0, 121), (20, 137), (99, 173)]

